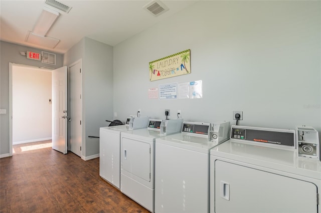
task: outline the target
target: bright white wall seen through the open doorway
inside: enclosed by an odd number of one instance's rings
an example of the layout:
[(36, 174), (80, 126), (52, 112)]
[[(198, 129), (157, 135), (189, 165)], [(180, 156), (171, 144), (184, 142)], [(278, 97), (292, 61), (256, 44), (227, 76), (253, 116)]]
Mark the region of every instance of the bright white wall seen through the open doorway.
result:
[(13, 144), (51, 139), (51, 71), (13, 66)]

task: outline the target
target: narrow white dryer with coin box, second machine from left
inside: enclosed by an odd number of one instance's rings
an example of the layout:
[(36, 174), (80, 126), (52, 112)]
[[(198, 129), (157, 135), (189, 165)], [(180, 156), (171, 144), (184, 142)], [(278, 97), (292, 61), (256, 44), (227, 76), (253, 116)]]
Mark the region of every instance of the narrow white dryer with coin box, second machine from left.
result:
[[(151, 212), (154, 212), (155, 139), (167, 132), (181, 131), (182, 125), (183, 119), (162, 120), (162, 123), (149, 123), (148, 128), (120, 134), (120, 190)], [(161, 129), (166, 132), (161, 133)]]

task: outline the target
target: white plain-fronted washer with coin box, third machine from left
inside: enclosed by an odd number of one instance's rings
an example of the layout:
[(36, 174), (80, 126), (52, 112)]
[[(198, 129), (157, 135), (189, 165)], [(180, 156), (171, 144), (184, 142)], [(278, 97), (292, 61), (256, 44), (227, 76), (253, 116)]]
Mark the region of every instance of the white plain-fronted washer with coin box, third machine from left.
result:
[(181, 133), (156, 138), (155, 212), (209, 212), (210, 149), (230, 133), (230, 122), (215, 125), (184, 122)]

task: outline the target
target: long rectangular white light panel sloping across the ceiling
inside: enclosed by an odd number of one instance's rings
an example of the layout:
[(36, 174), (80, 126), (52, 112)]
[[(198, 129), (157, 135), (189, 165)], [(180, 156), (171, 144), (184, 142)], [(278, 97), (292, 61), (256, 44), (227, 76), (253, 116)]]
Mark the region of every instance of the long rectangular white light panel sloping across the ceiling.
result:
[(45, 6), (34, 27), (33, 33), (45, 36), (58, 16), (59, 12)]

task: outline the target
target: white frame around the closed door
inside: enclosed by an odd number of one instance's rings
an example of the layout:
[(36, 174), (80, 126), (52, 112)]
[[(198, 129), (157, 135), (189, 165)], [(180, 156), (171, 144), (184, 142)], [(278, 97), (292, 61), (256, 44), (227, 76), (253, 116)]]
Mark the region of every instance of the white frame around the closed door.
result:
[[(68, 77), (67, 77), (67, 79), (68, 79), (68, 114), (70, 115), (70, 97), (71, 97), (71, 94), (70, 94), (70, 67), (72, 67), (72, 66), (74, 66), (74, 65), (76, 65), (77, 63), (80, 63), (80, 68), (81, 68), (81, 107), (82, 107), (82, 114), (81, 114), (81, 116), (82, 116), (82, 118), (81, 118), (81, 120), (82, 120), (82, 124), (81, 124), (81, 159), (83, 159), (83, 160), (86, 160), (86, 157), (85, 157), (85, 155), (86, 155), (86, 142), (85, 142), (85, 138), (86, 138), (86, 136), (85, 136), (85, 113), (84, 113), (84, 110), (83, 110), (83, 103), (84, 103), (84, 92), (83, 92), (83, 69), (82, 69), (82, 59), (80, 58), (80, 59), (78, 59), (78, 60), (76, 60), (75, 62), (73, 62), (73, 63), (71, 63), (70, 65), (68, 65), (67, 67), (67, 75), (68, 75)], [(72, 117), (70, 117), (71, 119), (73, 119)], [(67, 136), (67, 141), (68, 141), (68, 150), (70, 150), (70, 122), (68, 122), (68, 136)]]

